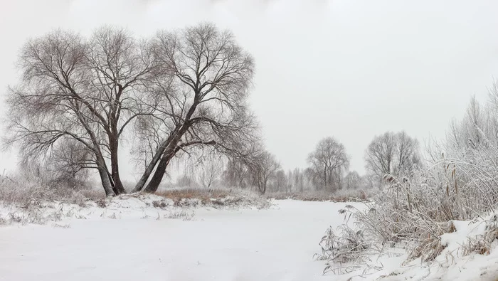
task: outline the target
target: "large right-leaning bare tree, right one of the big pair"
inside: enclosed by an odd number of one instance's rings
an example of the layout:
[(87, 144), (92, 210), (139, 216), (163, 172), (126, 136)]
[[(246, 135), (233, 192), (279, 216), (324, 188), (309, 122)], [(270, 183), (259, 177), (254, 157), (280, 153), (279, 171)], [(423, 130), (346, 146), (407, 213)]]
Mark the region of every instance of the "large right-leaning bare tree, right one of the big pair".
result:
[(152, 46), (161, 65), (160, 75), (149, 84), (156, 93), (152, 103), (157, 105), (154, 116), (142, 117), (145, 129), (139, 134), (151, 149), (134, 191), (156, 191), (179, 152), (210, 145), (244, 157), (245, 146), (254, 143), (257, 135), (246, 102), (253, 58), (230, 31), (218, 31), (209, 23), (176, 33), (161, 31)]

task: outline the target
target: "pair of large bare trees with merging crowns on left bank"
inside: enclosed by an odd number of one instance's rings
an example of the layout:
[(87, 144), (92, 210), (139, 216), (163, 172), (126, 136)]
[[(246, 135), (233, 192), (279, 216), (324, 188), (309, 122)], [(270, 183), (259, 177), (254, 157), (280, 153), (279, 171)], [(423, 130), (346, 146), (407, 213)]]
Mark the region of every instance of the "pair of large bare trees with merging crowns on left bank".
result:
[(247, 105), (253, 58), (210, 23), (146, 41), (119, 28), (88, 39), (54, 31), (26, 43), (19, 65), (7, 142), (20, 144), (26, 158), (83, 145), (90, 157), (80, 166), (97, 169), (108, 196), (126, 192), (118, 152), (127, 127), (144, 164), (134, 191), (156, 191), (171, 159), (192, 148), (211, 146), (234, 159), (255, 152)]

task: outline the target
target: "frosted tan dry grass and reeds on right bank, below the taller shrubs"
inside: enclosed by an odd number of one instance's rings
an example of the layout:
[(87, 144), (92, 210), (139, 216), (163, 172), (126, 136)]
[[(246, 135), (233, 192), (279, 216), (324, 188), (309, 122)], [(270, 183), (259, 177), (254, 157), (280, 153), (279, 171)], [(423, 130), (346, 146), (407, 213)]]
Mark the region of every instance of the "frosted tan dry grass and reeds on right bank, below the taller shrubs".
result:
[[(498, 175), (498, 169), (482, 161), (490, 157), (486, 153), (484, 150), (467, 152), (465, 161), (442, 161), (431, 169), (412, 171), (407, 177), (386, 175), (385, 188), (373, 198), (375, 203), (367, 203), (366, 209), (351, 212), (356, 228), (339, 235), (329, 234), (327, 239), (334, 243), (349, 241), (351, 233), (361, 230), (364, 236), (372, 238), (372, 245), (403, 245), (408, 251), (408, 260), (434, 260), (445, 249), (440, 236), (455, 231), (451, 221), (471, 220), (497, 208), (498, 194), (492, 189), (498, 184), (494, 174)], [(462, 245), (464, 253), (489, 253), (498, 238), (497, 229), (496, 223), (489, 223), (485, 235), (469, 238), (468, 243)], [(358, 256), (361, 256), (358, 251), (346, 248), (341, 255), (327, 258), (327, 268)]]

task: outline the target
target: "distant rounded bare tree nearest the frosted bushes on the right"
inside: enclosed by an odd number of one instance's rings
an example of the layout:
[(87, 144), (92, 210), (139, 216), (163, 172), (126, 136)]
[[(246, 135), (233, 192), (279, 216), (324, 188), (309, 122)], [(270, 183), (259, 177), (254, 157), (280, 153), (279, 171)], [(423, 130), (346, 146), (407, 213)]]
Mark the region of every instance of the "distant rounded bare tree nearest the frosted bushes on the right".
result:
[(406, 132), (386, 132), (373, 138), (365, 152), (366, 170), (381, 181), (385, 174), (400, 175), (420, 164), (418, 141)]

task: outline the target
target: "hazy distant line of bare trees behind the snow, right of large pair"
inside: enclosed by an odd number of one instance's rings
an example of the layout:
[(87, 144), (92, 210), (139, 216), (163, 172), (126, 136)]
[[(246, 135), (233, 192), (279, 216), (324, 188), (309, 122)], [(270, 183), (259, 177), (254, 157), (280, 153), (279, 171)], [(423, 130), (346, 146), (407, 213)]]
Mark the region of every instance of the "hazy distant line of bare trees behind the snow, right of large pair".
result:
[[(349, 159), (343, 144), (333, 137), (326, 137), (309, 154), (306, 169), (284, 171), (268, 152), (260, 152), (253, 161), (217, 157), (200, 165), (198, 170), (189, 171), (190, 176), (181, 176), (174, 185), (255, 187), (260, 193), (332, 193), (341, 189), (378, 187), (386, 174), (410, 176), (410, 172), (422, 164), (418, 141), (408, 137), (406, 132), (386, 132), (373, 138), (365, 152), (367, 173), (364, 176), (349, 171)], [(217, 168), (213, 169), (213, 165)], [(206, 181), (206, 173), (208, 179), (214, 180)]]

